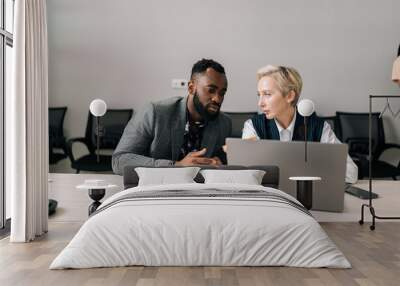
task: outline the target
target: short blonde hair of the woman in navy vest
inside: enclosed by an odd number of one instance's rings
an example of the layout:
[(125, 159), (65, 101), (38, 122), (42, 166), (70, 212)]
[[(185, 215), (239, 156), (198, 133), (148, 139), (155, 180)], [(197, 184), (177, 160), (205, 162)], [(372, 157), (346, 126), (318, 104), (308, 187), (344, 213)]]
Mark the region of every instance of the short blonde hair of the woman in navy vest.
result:
[(303, 87), (303, 80), (297, 70), (291, 67), (268, 65), (257, 71), (257, 81), (265, 76), (269, 76), (276, 81), (283, 96), (286, 96), (289, 91), (293, 90), (296, 95), (293, 105), (297, 104)]

